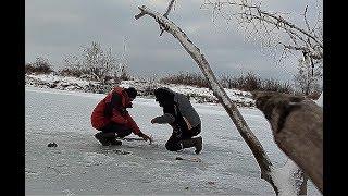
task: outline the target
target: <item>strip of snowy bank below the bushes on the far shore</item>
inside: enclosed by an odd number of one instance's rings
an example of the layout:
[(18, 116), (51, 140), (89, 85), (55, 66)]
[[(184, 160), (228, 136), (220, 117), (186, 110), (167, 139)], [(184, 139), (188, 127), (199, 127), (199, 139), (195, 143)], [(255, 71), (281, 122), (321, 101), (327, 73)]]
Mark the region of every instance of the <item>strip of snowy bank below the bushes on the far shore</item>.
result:
[[(85, 93), (105, 93), (109, 91), (112, 86), (100, 85), (97, 82), (60, 76), (54, 74), (40, 74), (40, 75), (25, 75), (25, 85), (40, 88), (54, 88), (64, 90), (75, 90)], [(158, 87), (167, 87), (173, 91), (178, 91), (190, 97), (192, 102), (211, 102), (216, 103), (217, 99), (213, 96), (212, 90), (209, 88), (199, 88), (195, 86), (174, 85), (174, 84), (159, 84), (141, 81), (122, 81), (120, 86), (135, 87), (140, 97), (151, 97), (151, 90)], [(248, 91), (241, 91), (238, 89), (225, 88), (229, 98), (235, 101), (239, 107), (254, 107), (254, 100), (251, 98), (251, 94)]]

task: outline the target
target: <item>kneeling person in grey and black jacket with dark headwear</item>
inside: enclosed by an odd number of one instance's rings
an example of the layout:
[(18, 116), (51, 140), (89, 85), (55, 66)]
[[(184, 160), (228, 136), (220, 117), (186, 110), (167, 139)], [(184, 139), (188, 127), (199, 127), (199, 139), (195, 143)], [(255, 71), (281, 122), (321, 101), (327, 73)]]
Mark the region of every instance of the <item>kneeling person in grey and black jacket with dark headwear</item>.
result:
[(170, 151), (195, 147), (196, 154), (202, 149), (202, 137), (194, 136), (201, 132), (201, 121), (188, 98), (169, 88), (154, 90), (156, 101), (163, 108), (163, 115), (151, 120), (151, 123), (170, 124), (173, 133), (165, 147)]

